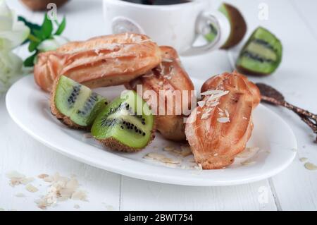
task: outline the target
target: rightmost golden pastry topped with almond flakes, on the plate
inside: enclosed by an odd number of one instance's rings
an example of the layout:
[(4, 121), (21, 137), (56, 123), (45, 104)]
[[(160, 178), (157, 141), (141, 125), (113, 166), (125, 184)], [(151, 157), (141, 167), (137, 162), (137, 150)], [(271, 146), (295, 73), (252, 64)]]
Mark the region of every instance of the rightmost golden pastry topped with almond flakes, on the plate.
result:
[(222, 169), (246, 147), (253, 129), (252, 111), (261, 95), (237, 72), (207, 80), (201, 93), (204, 99), (188, 118), (186, 137), (203, 169)]

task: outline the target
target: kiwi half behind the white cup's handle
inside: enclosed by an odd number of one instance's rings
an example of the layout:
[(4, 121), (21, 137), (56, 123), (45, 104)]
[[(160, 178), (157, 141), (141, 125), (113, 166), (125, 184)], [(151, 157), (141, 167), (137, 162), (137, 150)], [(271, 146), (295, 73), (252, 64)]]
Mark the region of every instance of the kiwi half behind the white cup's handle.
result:
[[(242, 13), (239, 11), (239, 9), (235, 8), (235, 6), (223, 3), (218, 8), (218, 11), (223, 13), (223, 15), (228, 18), (231, 28), (230, 35), (221, 49), (230, 49), (239, 44), (244, 38), (244, 35), (247, 32), (247, 23), (244, 20)], [(215, 39), (218, 31), (212, 24), (210, 25), (210, 28), (211, 32), (205, 35), (205, 37), (209, 42), (212, 42)]]

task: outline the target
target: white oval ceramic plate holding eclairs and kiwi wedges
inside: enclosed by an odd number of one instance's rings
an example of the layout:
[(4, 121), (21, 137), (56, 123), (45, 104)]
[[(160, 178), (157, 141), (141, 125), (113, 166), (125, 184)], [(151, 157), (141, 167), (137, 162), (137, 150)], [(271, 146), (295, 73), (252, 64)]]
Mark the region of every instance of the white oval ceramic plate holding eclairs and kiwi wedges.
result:
[[(197, 87), (201, 85), (198, 80), (194, 83)], [(121, 90), (123, 87), (108, 87), (97, 92), (111, 99)], [(57, 121), (49, 110), (49, 95), (35, 85), (32, 76), (22, 78), (11, 87), (6, 95), (6, 107), (23, 130), (57, 152), (107, 171), (161, 183), (230, 186), (259, 181), (285, 169), (294, 159), (294, 150), (297, 149), (290, 127), (263, 105), (254, 111), (254, 131), (248, 142), (249, 147), (259, 147), (259, 151), (236, 158), (235, 164), (227, 169), (213, 171), (188, 169), (193, 165), (192, 155), (183, 158), (181, 166), (175, 168), (144, 159), (149, 152), (181, 158), (162, 150), (166, 146), (180, 147), (180, 144), (164, 140), (159, 135), (141, 152), (128, 154), (107, 150), (92, 138), (85, 138), (85, 132), (71, 130)], [(247, 163), (243, 163), (246, 160)]]

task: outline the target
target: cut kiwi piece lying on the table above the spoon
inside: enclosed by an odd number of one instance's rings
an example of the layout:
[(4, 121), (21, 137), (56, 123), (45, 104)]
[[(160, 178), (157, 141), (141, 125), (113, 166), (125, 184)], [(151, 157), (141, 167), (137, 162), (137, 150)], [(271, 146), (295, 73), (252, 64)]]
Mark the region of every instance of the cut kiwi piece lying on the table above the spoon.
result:
[(268, 75), (273, 73), (282, 61), (282, 44), (270, 31), (257, 28), (237, 59), (241, 73)]

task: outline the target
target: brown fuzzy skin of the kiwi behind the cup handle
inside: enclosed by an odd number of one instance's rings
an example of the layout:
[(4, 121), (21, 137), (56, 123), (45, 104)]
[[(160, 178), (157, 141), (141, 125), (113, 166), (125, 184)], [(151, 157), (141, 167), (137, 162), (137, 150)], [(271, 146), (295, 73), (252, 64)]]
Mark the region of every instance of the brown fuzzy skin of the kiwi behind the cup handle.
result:
[(231, 32), (227, 42), (221, 47), (221, 49), (230, 49), (239, 44), (244, 35), (247, 33), (247, 23), (244, 20), (242, 13), (230, 4), (224, 4), (230, 18)]

